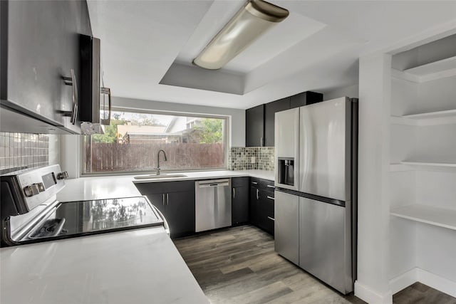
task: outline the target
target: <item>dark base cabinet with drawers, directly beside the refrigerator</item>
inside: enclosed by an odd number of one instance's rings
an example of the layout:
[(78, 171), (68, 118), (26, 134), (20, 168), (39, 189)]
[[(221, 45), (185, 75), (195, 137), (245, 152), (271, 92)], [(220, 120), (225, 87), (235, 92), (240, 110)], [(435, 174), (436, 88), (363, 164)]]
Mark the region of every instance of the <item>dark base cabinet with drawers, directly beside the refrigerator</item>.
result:
[(274, 182), (252, 177), (249, 205), (250, 222), (274, 236)]

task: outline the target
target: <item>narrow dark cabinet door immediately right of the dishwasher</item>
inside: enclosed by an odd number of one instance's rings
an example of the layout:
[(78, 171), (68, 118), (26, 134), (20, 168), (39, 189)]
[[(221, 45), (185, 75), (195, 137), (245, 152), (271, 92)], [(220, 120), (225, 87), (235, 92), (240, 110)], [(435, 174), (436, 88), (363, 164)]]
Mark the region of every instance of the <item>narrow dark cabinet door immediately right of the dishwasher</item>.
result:
[(249, 221), (249, 177), (234, 177), (232, 187), (232, 225)]

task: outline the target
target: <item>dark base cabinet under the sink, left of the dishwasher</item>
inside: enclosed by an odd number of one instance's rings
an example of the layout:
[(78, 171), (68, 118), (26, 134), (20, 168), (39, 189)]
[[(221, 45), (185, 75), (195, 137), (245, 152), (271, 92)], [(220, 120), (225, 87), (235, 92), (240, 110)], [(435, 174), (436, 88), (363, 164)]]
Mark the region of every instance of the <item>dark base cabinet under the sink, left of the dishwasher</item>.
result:
[(172, 238), (195, 233), (195, 182), (135, 184), (142, 195), (165, 216)]

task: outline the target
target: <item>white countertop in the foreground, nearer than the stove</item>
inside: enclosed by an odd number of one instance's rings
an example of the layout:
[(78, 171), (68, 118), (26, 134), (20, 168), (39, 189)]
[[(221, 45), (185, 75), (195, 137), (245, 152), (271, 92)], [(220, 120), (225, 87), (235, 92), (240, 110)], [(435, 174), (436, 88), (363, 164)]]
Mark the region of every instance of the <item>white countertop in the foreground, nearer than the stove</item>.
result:
[(209, 303), (162, 228), (1, 248), (0, 303)]

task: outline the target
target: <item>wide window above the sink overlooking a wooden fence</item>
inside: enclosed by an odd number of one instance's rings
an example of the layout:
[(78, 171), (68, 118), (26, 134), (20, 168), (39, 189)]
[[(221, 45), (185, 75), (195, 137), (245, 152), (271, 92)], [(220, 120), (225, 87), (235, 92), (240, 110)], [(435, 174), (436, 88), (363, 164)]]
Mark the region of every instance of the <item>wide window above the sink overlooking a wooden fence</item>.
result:
[(114, 110), (105, 134), (83, 137), (82, 174), (226, 169), (227, 117)]

